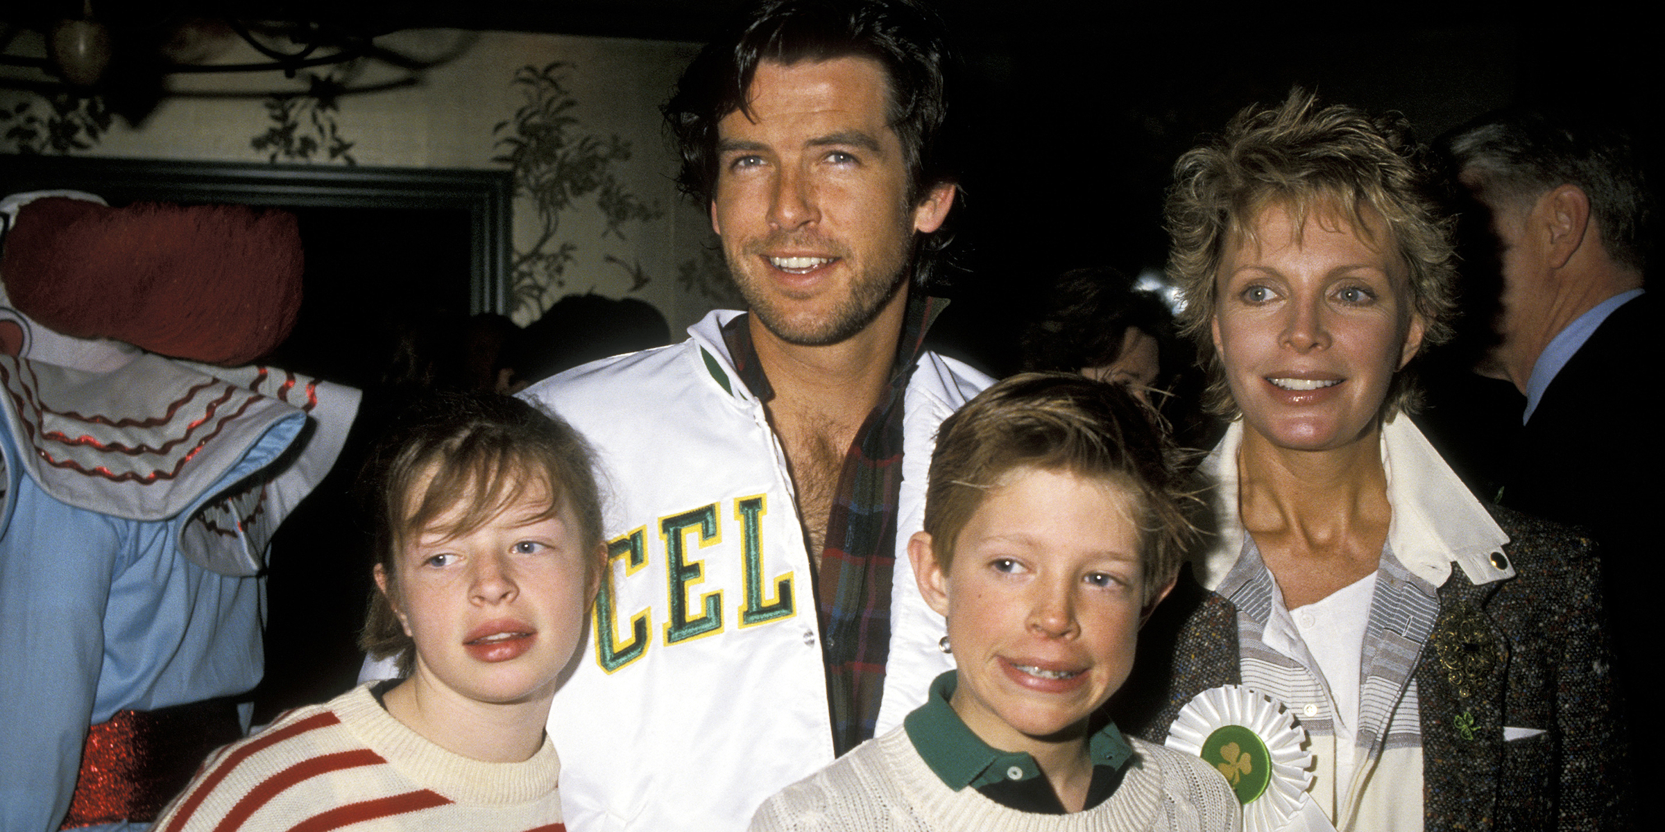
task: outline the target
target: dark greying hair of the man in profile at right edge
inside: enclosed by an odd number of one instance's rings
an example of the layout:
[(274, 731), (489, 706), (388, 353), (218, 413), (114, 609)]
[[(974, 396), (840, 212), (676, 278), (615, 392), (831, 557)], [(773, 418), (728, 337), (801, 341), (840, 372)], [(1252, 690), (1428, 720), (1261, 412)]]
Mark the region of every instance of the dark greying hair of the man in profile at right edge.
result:
[(1652, 205), (1630, 136), (1567, 113), (1500, 110), (1440, 141), (1459, 171), (1480, 178), (1487, 196), (1530, 206), (1540, 195), (1577, 185), (1590, 198), (1602, 246), (1622, 266), (1643, 271)]

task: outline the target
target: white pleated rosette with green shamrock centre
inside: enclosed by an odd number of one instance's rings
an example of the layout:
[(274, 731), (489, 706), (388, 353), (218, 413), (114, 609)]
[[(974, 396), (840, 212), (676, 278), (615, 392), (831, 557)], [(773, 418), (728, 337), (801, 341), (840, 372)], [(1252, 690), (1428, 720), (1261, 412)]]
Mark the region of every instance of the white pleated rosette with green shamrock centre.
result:
[[(1244, 805), (1244, 832), (1274, 832), (1310, 804), (1307, 730), (1272, 697), (1229, 684), (1197, 694), (1167, 729), (1167, 747), (1219, 769)], [(1300, 827), (1302, 824), (1295, 824)]]

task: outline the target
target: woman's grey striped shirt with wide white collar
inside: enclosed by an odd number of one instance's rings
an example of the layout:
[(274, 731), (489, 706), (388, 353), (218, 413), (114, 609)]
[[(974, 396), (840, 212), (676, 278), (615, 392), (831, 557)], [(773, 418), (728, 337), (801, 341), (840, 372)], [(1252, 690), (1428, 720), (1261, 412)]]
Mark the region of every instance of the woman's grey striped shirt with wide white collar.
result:
[[(1382, 426), (1382, 468), (1394, 509), (1375, 572), (1357, 664), (1355, 712), (1337, 712), (1337, 684), (1285, 609), (1277, 582), (1237, 516), (1237, 449), (1242, 421), (1204, 461), (1215, 483), (1219, 534), (1192, 561), (1202, 586), (1237, 609), (1240, 681), (1289, 707), (1310, 735), (1317, 760), (1312, 802), (1344, 832), (1417, 829), (1424, 819), (1422, 694), (1440, 604), (1437, 587), (1454, 569), (1474, 586), (1515, 576), (1502, 546), (1508, 536), (1450, 473), (1407, 418)], [(1342, 697), (1350, 699), (1350, 697)], [(1337, 747), (1337, 739), (1350, 747)]]

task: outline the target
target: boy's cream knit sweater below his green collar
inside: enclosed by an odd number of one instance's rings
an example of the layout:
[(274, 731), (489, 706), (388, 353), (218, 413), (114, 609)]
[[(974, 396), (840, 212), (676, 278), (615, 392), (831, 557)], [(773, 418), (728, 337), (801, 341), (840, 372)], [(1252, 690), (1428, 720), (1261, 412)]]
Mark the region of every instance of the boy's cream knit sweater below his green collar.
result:
[(901, 727), (768, 799), (753, 832), (1234, 832), (1240, 809), (1209, 764), (1137, 737), (1109, 800), (1067, 815), (1007, 809), (976, 789), (949, 789)]

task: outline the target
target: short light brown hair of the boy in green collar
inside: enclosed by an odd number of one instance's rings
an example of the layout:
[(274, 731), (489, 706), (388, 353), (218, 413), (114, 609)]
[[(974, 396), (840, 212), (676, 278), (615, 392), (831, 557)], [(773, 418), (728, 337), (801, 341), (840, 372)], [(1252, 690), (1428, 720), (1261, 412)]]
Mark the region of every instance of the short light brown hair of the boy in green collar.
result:
[(942, 421), (924, 531), (944, 572), (972, 513), (1019, 468), (1067, 471), (1131, 498), (1146, 606), (1179, 574), (1202, 508), (1190, 476), (1147, 406), (1121, 384), (1072, 373), (1021, 373)]

